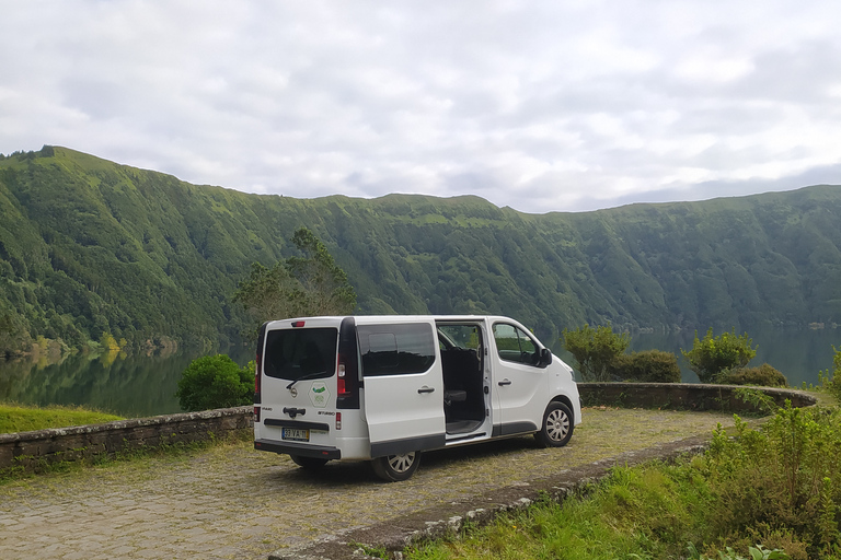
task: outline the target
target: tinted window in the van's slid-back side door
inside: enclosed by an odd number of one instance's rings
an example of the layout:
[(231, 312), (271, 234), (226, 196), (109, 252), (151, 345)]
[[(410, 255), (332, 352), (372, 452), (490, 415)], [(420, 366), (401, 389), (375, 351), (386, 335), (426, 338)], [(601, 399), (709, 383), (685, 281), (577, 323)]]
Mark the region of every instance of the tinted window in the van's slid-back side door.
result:
[(358, 325), (362, 375), (423, 373), (435, 363), (431, 325)]

